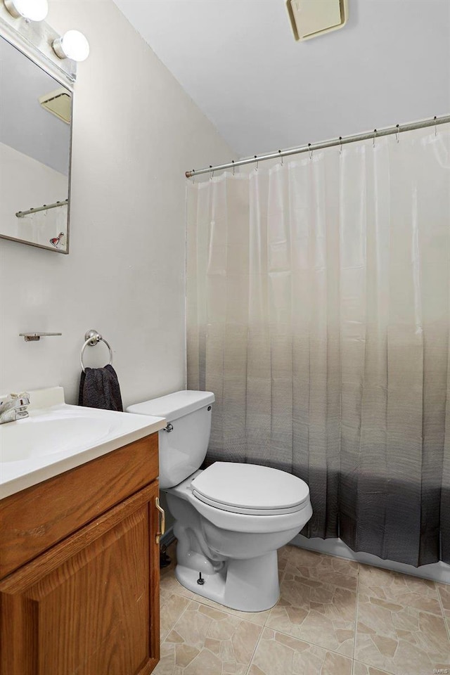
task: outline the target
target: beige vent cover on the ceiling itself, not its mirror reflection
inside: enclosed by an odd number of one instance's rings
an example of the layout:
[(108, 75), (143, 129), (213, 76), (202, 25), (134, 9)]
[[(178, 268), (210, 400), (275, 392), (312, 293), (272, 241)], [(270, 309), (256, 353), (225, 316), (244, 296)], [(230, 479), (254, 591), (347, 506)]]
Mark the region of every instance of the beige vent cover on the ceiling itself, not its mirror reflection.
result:
[(347, 23), (347, 0), (288, 0), (287, 7), (296, 40), (309, 40)]

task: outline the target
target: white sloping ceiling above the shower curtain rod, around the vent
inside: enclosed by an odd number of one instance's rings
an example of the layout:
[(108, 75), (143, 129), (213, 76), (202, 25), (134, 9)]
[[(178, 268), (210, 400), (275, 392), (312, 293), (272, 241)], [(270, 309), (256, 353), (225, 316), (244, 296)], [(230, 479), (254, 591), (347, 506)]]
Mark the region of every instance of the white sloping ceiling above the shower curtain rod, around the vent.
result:
[(450, 112), (449, 0), (349, 0), (305, 42), (285, 0), (115, 3), (240, 156)]

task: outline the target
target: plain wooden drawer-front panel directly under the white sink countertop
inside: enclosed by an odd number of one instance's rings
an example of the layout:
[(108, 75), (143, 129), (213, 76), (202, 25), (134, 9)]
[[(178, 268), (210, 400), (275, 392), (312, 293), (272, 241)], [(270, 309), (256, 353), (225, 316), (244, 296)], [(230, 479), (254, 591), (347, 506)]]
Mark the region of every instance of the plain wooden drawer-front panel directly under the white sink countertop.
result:
[(0, 579), (158, 477), (158, 434), (0, 501)]

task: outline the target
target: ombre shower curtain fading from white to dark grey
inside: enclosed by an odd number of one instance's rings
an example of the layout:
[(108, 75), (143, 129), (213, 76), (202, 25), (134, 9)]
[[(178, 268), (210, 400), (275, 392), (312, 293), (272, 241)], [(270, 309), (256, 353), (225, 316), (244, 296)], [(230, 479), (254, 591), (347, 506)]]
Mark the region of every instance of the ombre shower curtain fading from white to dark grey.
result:
[(309, 484), (303, 534), (450, 563), (450, 129), (188, 182), (209, 461)]

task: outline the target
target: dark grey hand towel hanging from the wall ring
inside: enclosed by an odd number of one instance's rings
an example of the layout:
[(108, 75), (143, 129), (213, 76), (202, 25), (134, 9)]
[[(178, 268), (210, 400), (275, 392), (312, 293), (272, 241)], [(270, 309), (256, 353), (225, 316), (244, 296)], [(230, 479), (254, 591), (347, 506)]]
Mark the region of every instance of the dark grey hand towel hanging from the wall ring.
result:
[(78, 405), (123, 411), (119, 380), (113, 366), (86, 368), (79, 380)]

